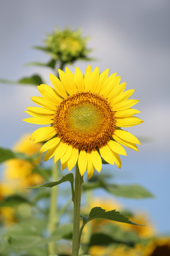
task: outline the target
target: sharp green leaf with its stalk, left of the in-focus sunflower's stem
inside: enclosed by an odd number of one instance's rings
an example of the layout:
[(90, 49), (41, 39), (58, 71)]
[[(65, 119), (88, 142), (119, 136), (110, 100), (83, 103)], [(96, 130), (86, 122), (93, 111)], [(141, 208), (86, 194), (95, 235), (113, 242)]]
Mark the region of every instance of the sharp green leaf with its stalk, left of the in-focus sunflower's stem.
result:
[(28, 189), (33, 189), (33, 188), (43, 188), (43, 187), (47, 187), (47, 188), (52, 188), (53, 186), (57, 186), (63, 182), (69, 181), (71, 184), (71, 188), (72, 188), (72, 197), (74, 196), (74, 176), (73, 174), (67, 174), (66, 176), (62, 177), (60, 179), (60, 181), (52, 181), (52, 182), (47, 182), (44, 183), (42, 185), (38, 185), (38, 186), (31, 186)]

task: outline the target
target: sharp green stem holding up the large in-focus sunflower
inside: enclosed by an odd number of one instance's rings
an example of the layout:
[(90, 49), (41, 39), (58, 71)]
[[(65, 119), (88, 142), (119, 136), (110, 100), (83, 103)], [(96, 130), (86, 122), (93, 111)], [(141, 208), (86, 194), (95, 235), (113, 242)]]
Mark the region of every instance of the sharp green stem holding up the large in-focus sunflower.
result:
[(72, 238), (72, 256), (79, 256), (79, 225), (80, 225), (80, 206), (81, 206), (81, 186), (83, 177), (79, 173), (79, 167), (76, 166), (76, 177), (74, 186), (74, 222)]

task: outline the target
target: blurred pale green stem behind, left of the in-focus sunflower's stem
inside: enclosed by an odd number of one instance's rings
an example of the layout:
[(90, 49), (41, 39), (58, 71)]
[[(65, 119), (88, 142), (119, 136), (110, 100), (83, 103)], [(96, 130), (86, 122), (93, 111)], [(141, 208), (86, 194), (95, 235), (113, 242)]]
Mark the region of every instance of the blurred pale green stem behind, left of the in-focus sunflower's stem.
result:
[[(52, 181), (57, 181), (59, 175), (59, 161), (52, 167)], [(50, 209), (49, 209), (49, 220), (48, 220), (48, 230), (50, 235), (55, 230), (55, 224), (57, 223), (57, 186), (51, 188), (50, 193)], [(55, 242), (49, 242), (48, 244), (49, 254), (55, 253)]]

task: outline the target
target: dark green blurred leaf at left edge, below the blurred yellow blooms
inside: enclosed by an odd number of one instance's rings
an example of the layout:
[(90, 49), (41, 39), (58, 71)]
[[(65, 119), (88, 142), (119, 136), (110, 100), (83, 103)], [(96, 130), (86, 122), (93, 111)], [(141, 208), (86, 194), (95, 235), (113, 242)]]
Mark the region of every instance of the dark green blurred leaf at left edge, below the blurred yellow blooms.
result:
[(21, 203), (30, 203), (30, 201), (28, 201), (28, 199), (24, 198), (23, 196), (6, 196), (4, 200), (0, 202), (0, 208), (6, 206), (14, 207), (18, 206)]

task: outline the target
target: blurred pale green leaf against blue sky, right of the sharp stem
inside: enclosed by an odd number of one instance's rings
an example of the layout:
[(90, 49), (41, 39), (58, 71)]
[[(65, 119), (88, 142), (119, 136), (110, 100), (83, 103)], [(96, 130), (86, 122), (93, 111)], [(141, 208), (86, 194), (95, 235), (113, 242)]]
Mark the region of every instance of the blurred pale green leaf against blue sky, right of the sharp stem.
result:
[(108, 185), (107, 191), (115, 196), (123, 196), (125, 198), (152, 198), (154, 197), (146, 188), (137, 184), (131, 185)]

